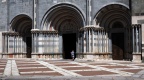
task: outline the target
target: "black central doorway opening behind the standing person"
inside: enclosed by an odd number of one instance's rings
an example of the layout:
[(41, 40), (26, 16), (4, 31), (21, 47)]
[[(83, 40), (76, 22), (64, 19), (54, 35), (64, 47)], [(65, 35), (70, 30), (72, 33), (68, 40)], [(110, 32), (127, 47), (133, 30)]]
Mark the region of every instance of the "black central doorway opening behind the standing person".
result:
[[(64, 59), (72, 59), (71, 51), (74, 50), (76, 52), (76, 34), (63, 34), (63, 58)], [(76, 57), (76, 53), (75, 53)]]

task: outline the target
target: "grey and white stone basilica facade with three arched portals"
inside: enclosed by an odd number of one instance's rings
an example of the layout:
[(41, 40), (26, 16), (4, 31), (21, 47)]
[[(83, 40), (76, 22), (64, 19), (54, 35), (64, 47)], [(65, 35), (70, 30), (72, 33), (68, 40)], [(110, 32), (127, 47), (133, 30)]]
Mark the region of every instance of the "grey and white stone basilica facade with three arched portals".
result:
[(1, 58), (143, 59), (143, 0), (0, 0)]

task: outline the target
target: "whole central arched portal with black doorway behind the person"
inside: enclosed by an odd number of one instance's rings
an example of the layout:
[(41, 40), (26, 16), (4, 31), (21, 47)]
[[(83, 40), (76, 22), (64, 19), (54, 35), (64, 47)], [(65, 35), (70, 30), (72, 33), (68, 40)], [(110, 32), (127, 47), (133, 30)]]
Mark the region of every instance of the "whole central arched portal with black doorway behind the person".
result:
[(64, 59), (71, 59), (70, 52), (78, 51), (78, 33), (84, 26), (84, 17), (81, 11), (71, 4), (59, 4), (49, 10), (43, 24), (42, 30), (58, 31), (59, 52)]

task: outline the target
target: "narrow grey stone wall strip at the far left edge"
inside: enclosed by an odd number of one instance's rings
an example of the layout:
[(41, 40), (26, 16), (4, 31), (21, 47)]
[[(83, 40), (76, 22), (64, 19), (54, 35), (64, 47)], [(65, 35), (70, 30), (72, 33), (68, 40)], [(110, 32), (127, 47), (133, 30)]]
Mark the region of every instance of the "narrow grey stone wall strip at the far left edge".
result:
[(0, 31), (7, 30), (7, 3), (0, 0)]

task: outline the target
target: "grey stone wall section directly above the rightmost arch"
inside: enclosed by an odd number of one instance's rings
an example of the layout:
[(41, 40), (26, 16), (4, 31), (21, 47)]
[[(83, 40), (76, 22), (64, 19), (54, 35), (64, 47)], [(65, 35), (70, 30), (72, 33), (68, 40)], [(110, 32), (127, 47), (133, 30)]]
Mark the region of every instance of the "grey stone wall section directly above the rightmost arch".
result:
[(121, 4), (129, 7), (129, 0), (92, 0), (92, 20), (101, 8), (109, 4)]

